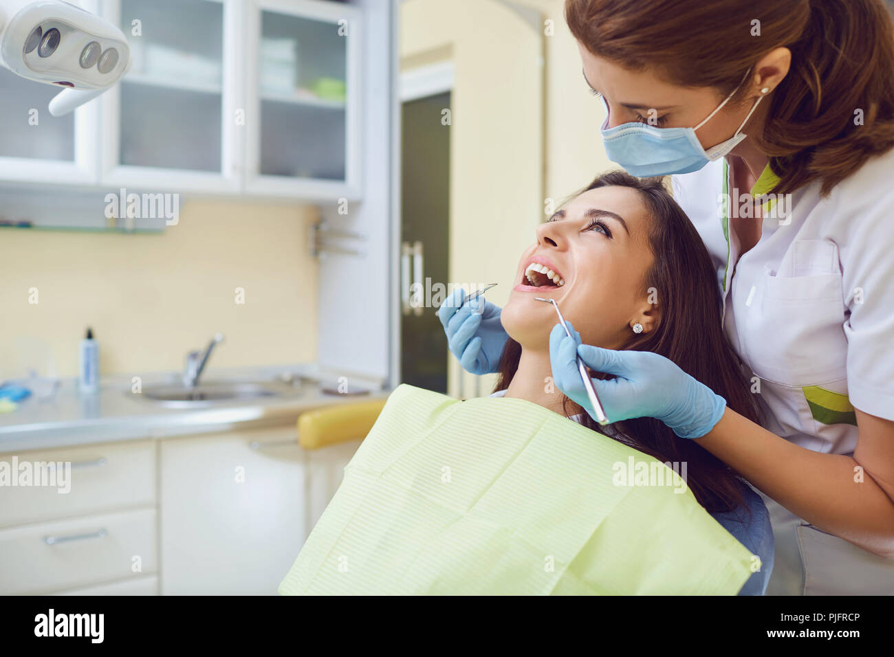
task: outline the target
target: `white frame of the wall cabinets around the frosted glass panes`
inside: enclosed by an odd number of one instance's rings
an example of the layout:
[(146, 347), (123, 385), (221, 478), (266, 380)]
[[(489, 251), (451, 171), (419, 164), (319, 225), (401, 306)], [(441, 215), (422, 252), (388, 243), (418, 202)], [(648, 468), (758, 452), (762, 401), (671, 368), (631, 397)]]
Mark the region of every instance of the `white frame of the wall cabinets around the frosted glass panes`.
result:
[[(75, 111), (74, 161), (27, 157), (0, 157), (0, 182), (54, 185), (59, 188), (183, 191), (209, 196), (243, 194), (256, 198), (296, 198), (308, 202), (333, 202), (363, 196), (363, 135), (372, 128), (363, 121), (361, 75), (363, 69), (364, 5), (325, 0), (200, 0), (223, 8), (220, 170), (201, 171), (176, 166), (122, 164), (122, 85), (155, 85), (196, 90), (182, 80), (158, 80), (129, 73), (122, 82)], [(81, 6), (121, 25), (122, 0), (80, 0)], [(260, 34), (263, 12), (283, 13), (311, 21), (346, 20), (344, 102), (344, 178), (324, 179), (271, 175), (261, 169)], [(129, 42), (150, 39), (145, 32), (133, 37), (123, 26)], [(216, 89), (208, 88), (209, 93)], [(285, 102), (285, 101), (283, 101)], [(338, 105), (333, 101), (299, 100), (298, 105)], [(38, 108), (41, 114), (46, 108)]]

